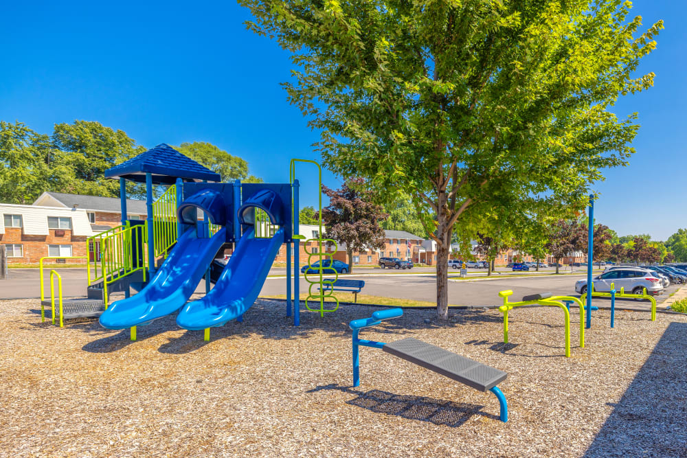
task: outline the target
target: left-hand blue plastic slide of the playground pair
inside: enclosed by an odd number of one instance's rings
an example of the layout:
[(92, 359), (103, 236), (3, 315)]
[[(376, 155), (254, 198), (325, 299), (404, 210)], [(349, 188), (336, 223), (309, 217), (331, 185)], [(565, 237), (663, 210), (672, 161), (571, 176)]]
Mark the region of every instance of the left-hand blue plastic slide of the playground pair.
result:
[(100, 324), (108, 329), (126, 329), (179, 310), (227, 239), (226, 231), (223, 227), (212, 238), (197, 237), (196, 228), (183, 233), (150, 283), (137, 295), (113, 302), (100, 315)]

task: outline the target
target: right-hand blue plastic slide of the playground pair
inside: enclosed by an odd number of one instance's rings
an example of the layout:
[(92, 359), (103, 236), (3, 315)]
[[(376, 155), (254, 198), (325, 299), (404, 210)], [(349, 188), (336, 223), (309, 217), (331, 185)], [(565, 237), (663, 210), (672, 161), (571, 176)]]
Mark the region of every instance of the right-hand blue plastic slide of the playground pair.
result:
[(282, 243), (283, 228), (272, 238), (255, 238), (253, 229), (244, 233), (214, 288), (189, 302), (179, 312), (177, 324), (188, 330), (216, 328), (243, 315), (258, 299)]

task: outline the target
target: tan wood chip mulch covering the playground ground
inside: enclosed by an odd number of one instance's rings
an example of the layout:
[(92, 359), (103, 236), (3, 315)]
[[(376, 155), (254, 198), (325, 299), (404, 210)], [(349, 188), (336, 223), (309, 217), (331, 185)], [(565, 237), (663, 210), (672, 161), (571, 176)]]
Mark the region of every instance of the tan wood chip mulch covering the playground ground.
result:
[[(95, 320), (41, 323), (34, 299), (0, 301), (1, 457), (578, 457), (687, 456), (687, 317), (593, 314), (587, 345), (563, 356), (561, 310), (510, 315), (432, 310), (363, 331), (413, 336), (508, 372), (475, 391), (372, 348), (352, 387), (348, 321), (376, 308), (341, 306), (294, 328), (283, 303), (258, 301), (243, 323), (202, 332), (174, 317), (128, 330)], [(429, 319), (429, 323), (425, 320)]]

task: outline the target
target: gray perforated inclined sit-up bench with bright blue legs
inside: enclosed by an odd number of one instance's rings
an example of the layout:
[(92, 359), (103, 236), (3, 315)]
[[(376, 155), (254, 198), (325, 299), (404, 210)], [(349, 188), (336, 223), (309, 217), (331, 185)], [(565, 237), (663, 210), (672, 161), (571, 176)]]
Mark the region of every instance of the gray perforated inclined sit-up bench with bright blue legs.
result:
[(379, 348), (398, 358), (403, 358), (411, 363), (425, 367), (442, 376), (446, 376), (480, 391), (491, 391), (496, 395), (500, 404), (500, 418), (502, 422), (508, 421), (508, 404), (506, 396), (496, 386), (506, 380), (508, 374), (494, 367), (478, 363), (475, 360), (460, 356), (436, 345), (430, 345), (418, 339), (408, 337), (392, 343), (366, 341), (359, 339), (359, 332), (363, 328), (378, 325), (383, 319), (401, 317), (403, 310), (392, 308), (379, 310), (372, 314), (371, 318), (363, 318), (351, 321), (348, 325), (353, 330), (353, 386), (360, 385), (360, 357), (359, 346)]

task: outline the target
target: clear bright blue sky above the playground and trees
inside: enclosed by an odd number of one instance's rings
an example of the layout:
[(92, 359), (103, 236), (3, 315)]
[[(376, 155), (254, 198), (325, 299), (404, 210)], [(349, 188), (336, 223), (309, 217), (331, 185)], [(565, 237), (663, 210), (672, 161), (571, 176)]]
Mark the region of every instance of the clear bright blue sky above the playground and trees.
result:
[[(596, 220), (665, 240), (687, 227), (687, 5), (640, 0), (633, 14), (644, 28), (663, 19), (666, 29), (639, 69), (656, 73), (655, 87), (616, 105), (619, 115), (638, 111), (642, 127), (629, 167), (596, 185)], [(210, 141), (272, 182), (288, 181), (292, 157), (319, 159), (317, 133), (279, 85), (290, 78), (288, 54), (245, 30), (248, 14), (236, 3), (10, 2), (3, 17), (0, 119), (41, 133), (94, 120), (146, 147)], [(302, 195), (312, 196), (313, 180), (300, 175), (311, 184)], [(324, 181), (340, 184), (328, 172)]]

